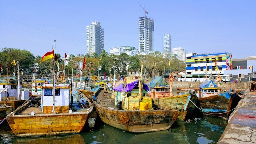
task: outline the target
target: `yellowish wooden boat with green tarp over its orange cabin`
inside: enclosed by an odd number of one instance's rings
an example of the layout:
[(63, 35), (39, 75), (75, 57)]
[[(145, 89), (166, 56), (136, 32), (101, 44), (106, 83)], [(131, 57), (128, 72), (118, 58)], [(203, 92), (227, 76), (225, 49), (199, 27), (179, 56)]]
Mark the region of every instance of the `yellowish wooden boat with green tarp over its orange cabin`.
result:
[(154, 98), (153, 104), (160, 109), (164, 110), (179, 110), (180, 115), (178, 120), (185, 121), (189, 118), (195, 109), (195, 105), (198, 101), (196, 91), (190, 89), (181, 95), (173, 95), (172, 92), (172, 81), (174, 78), (169, 77), (170, 83), (168, 83), (161, 76), (155, 76), (154, 79), (149, 83), (150, 97)]

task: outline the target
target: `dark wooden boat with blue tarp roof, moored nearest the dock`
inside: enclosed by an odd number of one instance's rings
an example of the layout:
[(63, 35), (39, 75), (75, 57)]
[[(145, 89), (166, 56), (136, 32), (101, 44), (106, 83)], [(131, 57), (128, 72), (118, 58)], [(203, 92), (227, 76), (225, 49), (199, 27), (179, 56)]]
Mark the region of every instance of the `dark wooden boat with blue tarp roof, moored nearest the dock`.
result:
[(227, 92), (220, 93), (220, 87), (210, 80), (204, 81), (200, 88), (198, 100), (204, 115), (228, 120), (238, 102), (243, 98), (237, 90), (229, 89)]

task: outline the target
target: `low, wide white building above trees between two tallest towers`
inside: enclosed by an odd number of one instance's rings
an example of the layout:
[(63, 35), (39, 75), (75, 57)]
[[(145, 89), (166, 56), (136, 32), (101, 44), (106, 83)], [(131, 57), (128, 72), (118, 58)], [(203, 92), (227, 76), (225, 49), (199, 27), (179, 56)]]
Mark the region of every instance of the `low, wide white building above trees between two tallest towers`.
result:
[(130, 47), (130, 46), (121, 46), (121, 47), (115, 47), (115, 48), (110, 48), (110, 54), (114, 55), (120, 55), (122, 53), (126, 53), (130, 56), (135, 56), (139, 52), (138, 49), (135, 47)]

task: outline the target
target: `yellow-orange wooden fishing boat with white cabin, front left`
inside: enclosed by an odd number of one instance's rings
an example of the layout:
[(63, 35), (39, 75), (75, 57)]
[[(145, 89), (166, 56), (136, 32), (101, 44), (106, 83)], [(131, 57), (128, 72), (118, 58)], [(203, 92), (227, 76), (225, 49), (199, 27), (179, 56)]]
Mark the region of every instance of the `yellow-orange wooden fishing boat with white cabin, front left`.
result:
[(13, 133), (20, 137), (35, 137), (80, 132), (93, 110), (93, 105), (88, 98), (80, 93), (81, 97), (89, 103), (88, 109), (78, 108), (76, 111), (70, 111), (68, 85), (56, 85), (54, 104), (52, 103), (53, 95), (51, 95), (53, 84), (44, 84), (42, 89), (42, 96), (28, 100), (6, 116)]

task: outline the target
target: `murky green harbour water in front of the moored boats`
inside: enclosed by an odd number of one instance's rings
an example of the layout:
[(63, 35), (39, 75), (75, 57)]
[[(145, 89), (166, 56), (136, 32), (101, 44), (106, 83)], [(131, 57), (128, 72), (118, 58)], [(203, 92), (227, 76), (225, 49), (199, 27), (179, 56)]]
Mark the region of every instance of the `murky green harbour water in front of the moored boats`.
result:
[[(82, 132), (74, 135), (20, 138), (10, 129), (0, 130), (0, 143), (217, 143), (227, 121), (219, 118), (206, 117), (188, 122), (175, 122), (169, 130), (130, 133), (107, 124), (101, 124), (95, 131)], [(2, 128), (1, 128), (2, 129)]]

